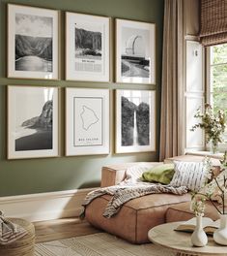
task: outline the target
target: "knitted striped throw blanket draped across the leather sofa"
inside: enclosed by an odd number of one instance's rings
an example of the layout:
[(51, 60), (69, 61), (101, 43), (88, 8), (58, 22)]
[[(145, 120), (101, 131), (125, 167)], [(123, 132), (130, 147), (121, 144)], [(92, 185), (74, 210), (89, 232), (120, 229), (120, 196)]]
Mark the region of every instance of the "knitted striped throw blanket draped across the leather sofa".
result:
[(156, 183), (149, 183), (148, 185), (147, 183), (144, 184), (144, 182), (141, 182), (141, 184), (120, 184), (110, 187), (103, 187), (90, 192), (86, 196), (82, 204), (84, 211), (81, 215), (84, 215), (86, 206), (88, 206), (94, 199), (105, 194), (112, 196), (112, 198), (108, 202), (107, 207), (105, 208), (102, 215), (106, 218), (110, 218), (115, 215), (120, 210), (120, 208), (131, 199), (139, 198), (145, 195), (161, 193), (183, 195), (186, 192), (187, 189), (185, 186), (173, 187), (170, 185), (161, 185)]

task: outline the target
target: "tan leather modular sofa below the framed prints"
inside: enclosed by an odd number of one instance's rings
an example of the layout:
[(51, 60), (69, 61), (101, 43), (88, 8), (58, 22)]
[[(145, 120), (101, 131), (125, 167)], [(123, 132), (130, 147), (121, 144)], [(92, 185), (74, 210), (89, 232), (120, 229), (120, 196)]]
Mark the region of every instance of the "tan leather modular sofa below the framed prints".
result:
[[(169, 163), (173, 160), (174, 159), (167, 159), (165, 162)], [(203, 157), (184, 156), (177, 160), (202, 161)], [(101, 173), (101, 187), (118, 184), (125, 179), (127, 168), (136, 164), (138, 163), (103, 167)], [(143, 164), (149, 167), (160, 163)], [(218, 166), (219, 161), (214, 160), (213, 165)], [(191, 212), (188, 211), (190, 202), (189, 194), (184, 194), (182, 196), (172, 194), (153, 194), (143, 196), (129, 201), (115, 216), (105, 218), (102, 216), (102, 212), (104, 211), (109, 199), (110, 196), (108, 195), (95, 199), (86, 208), (86, 219), (95, 227), (132, 243), (148, 242), (148, 231), (156, 225), (166, 222), (166, 216), (167, 221), (180, 220), (178, 217), (180, 215), (183, 220), (189, 219), (193, 216)], [(181, 207), (182, 203), (184, 203), (184, 210), (182, 210)], [(180, 209), (177, 207), (180, 207)]]

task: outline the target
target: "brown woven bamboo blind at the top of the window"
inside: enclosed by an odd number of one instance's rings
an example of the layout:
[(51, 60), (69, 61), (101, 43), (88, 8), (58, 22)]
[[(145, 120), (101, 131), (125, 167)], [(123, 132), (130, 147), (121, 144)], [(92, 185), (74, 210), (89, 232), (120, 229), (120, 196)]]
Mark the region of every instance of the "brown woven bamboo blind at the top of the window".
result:
[(227, 0), (201, 0), (200, 41), (205, 47), (227, 43)]

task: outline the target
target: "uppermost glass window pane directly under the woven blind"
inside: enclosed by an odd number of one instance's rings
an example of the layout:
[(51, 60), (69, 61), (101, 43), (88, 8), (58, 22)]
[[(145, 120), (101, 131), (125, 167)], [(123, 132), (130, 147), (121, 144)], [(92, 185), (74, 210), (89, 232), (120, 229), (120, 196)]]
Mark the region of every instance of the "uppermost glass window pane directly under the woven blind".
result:
[(211, 64), (227, 63), (227, 44), (211, 47)]

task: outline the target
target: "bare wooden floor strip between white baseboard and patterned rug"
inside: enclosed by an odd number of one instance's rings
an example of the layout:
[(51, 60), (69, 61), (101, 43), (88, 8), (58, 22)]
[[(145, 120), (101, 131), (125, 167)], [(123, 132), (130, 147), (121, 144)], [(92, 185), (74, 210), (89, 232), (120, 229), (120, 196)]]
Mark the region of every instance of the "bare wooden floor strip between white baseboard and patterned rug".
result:
[(63, 218), (34, 222), (36, 229), (36, 242), (48, 240), (63, 240), (72, 237), (85, 236), (100, 231), (92, 227), (86, 220), (79, 218)]

